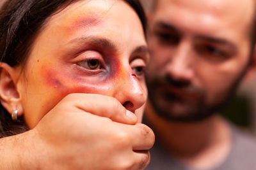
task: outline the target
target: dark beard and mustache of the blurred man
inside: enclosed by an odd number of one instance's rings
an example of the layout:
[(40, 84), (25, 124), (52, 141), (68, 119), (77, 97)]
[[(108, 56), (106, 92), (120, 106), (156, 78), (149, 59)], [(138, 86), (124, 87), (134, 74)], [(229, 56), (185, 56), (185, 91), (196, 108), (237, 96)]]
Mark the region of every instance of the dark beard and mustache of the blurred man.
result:
[[(237, 76), (226, 89), (220, 92), (220, 99), (212, 104), (207, 104), (207, 92), (204, 89), (191, 85), (188, 81), (173, 80), (170, 76), (156, 76), (154, 80), (148, 81), (148, 98), (157, 115), (173, 122), (196, 122), (210, 117), (225, 106), (243, 78), (246, 68)], [(222, 82), (224, 83), (224, 82)], [(176, 89), (178, 92), (172, 92)], [(189, 94), (190, 97), (182, 96), (179, 90)]]

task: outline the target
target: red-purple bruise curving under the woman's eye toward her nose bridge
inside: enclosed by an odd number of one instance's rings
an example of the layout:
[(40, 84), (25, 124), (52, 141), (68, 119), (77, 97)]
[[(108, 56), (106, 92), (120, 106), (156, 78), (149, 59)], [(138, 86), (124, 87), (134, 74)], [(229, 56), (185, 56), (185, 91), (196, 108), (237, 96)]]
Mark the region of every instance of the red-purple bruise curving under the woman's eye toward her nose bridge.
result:
[[(77, 69), (66, 69), (66, 66), (53, 67), (45, 64), (42, 67), (42, 76), (45, 85), (54, 90), (54, 93), (65, 96), (71, 93), (91, 93), (111, 96), (116, 87), (124, 83), (127, 74), (136, 77), (134, 73), (127, 73), (127, 69), (120, 64), (120, 60), (108, 59), (109, 70), (106, 73), (86, 76)], [(109, 57), (110, 58), (110, 57)], [(68, 66), (67, 66), (68, 67)], [(61, 70), (61, 71), (59, 71)]]

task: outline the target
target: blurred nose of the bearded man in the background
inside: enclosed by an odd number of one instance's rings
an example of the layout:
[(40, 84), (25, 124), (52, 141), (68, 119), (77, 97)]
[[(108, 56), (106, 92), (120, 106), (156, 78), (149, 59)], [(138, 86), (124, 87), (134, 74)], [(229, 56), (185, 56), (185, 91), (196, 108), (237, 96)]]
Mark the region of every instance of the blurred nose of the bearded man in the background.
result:
[(193, 51), (188, 41), (181, 41), (170, 54), (168, 74), (177, 81), (191, 81), (193, 78)]

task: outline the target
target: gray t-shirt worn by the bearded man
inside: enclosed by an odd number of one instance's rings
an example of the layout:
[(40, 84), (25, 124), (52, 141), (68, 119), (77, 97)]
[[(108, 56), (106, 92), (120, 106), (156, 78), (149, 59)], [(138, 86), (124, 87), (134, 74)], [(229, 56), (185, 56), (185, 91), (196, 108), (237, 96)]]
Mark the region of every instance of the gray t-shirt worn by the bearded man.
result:
[[(252, 136), (230, 125), (232, 129), (232, 149), (225, 161), (217, 167), (203, 170), (255, 170), (256, 141)], [(179, 162), (156, 141), (150, 150), (151, 161), (146, 170), (198, 170)], [(200, 169), (202, 170), (202, 169)]]

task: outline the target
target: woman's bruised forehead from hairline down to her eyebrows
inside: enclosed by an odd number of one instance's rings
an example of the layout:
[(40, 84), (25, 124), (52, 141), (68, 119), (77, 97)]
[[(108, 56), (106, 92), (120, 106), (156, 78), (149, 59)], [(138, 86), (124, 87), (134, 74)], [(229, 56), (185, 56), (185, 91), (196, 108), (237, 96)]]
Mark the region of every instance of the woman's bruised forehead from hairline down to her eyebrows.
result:
[(70, 4), (49, 18), (42, 33), (45, 35), (45, 32), (60, 35), (63, 37), (61, 41), (97, 35), (113, 41), (120, 40), (116, 36), (123, 36), (124, 40), (146, 44), (140, 18), (125, 1), (93, 0)]

